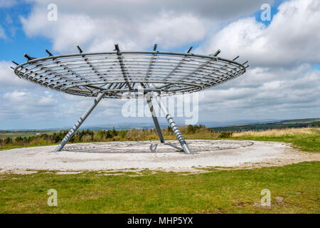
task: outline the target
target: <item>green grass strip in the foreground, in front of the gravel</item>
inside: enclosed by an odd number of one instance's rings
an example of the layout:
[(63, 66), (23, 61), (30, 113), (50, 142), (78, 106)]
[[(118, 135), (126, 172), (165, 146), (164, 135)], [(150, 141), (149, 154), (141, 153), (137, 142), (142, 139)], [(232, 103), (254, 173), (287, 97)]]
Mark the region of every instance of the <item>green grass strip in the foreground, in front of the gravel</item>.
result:
[[(319, 180), (320, 162), (193, 175), (8, 174), (0, 178), (0, 213), (320, 213)], [(58, 207), (47, 205), (51, 188)], [(262, 189), (271, 207), (254, 206)]]

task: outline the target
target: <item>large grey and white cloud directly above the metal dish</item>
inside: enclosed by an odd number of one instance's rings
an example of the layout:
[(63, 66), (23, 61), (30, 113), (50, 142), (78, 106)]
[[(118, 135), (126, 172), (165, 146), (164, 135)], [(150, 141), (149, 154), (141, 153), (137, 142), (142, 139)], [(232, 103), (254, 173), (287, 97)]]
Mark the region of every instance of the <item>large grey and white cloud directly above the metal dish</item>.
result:
[[(34, 1), (31, 14), (21, 17), (28, 36), (46, 36), (55, 51), (109, 51), (114, 43), (123, 49), (177, 48), (201, 41), (222, 21), (260, 9), (264, 1)], [(250, 4), (249, 4), (250, 2)], [(267, 2), (272, 2), (268, 0)], [(48, 4), (58, 7), (58, 21), (47, 20)]]

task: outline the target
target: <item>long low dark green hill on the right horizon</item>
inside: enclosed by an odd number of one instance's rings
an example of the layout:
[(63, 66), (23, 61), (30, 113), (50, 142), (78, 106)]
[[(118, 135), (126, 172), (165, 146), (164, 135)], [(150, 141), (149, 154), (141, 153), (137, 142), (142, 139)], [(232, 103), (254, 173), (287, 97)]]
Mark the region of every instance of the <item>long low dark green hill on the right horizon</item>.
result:
[(225, 127), (211, 128), (215, 132), (223, 131), (246, 131), (246, 130), (268, 130), (281, 128), (308, 128), (319, 127), (320, 118), (297, 119), (297, 120), (282, 120), (274, 123), (250, 123), (250, 124), (236, 124)]

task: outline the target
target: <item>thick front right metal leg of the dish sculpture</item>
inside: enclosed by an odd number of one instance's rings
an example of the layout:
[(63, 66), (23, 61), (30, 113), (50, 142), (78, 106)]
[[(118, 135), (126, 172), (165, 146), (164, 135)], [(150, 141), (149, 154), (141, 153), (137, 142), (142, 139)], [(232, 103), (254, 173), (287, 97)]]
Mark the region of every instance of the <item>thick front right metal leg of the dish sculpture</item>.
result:
[[(154, 84), (153, 83), (148, 83), (147, 84), (149, 88), (154, 88)], [(186, 154), (194, 154), (195, 152), (192, 152), (188, 146), (188, 144), (186, 143), (186, 140), (184, 140), (183, 135), (181, 134), (181, 131), (178, 129), (178, 126), (176, 125), (176, 123), (174, 122), (174, 118), (171, 117), (171, 115), (168, 112), (168, 109), (166, 108), (166, 106), (164, 105), (164, 103), (161, 100), (161, 96), (158, 92), (154, 91), (151, 92), (153, 97), (156, 99), (156, 102), (159, 103), (159, 106), (162, 110), (162, 113), (164, 113), (164, 116), (166, 117), (166, 120), (168, 121), (171, 129), (174, 131), (174, 134), (176, 135), (177, 140), (180, 142), (181, 147), (183, 148), (183, 151)]]

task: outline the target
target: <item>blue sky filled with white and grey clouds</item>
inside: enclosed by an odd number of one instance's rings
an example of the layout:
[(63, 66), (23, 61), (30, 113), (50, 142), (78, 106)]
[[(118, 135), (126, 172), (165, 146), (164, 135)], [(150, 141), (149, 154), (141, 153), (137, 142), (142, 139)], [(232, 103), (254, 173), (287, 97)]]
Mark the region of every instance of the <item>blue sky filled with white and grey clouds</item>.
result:
[[(56, 20), (48, 20), (57, 6)], [(265, 20), (265, 4), (270, 20)], [(262, 15), (262, 17), (261, 17)], [(198, 93), (198, 123), (320, 117), (319, 0), (0, 0), (0, 129), (65, 128), (92, 98), (59, 93), (15, 76), (30, 56), (152, 50), (249, 61), (247, 72)], [(84, 126), (152, 123), (102, 100)], [(183, 118), (176, 118), (183, 123)], [(165, 119), (160, 118), (164, 123)]]

